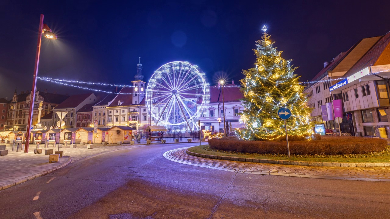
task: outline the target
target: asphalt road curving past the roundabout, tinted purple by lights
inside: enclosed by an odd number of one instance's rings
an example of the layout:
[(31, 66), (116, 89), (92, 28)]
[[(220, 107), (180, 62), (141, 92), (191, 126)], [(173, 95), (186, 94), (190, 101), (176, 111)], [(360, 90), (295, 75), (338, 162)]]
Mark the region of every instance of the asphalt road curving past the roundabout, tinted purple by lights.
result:
[(4, 219), (390, 218), (388, 182), (232, 173), (131, 148), (0, 191)]

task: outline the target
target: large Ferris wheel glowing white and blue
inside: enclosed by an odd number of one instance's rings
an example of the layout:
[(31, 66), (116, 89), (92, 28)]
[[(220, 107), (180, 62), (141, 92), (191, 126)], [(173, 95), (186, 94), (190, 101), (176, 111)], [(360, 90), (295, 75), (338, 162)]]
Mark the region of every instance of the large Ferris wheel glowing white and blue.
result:
[(199, 112), (210, 98), (206, 74), (189, 62), (169, 62), (153, 73), (145, 102), (156, 125), (196, 129)]

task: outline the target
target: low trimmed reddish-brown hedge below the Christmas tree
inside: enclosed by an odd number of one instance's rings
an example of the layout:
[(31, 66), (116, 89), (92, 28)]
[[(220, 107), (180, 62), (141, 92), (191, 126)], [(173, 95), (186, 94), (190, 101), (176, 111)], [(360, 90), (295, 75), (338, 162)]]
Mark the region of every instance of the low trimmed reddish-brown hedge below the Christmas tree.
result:
[[(321, 136), (321, 140), (289, 141), (295, 155), (366, 154), (386, 149), (387, 141), (378, 138)], [(284, 141), (243, 141), (236, 138), (210, 139), (210, 148), (251, 154), (287, 154)]]

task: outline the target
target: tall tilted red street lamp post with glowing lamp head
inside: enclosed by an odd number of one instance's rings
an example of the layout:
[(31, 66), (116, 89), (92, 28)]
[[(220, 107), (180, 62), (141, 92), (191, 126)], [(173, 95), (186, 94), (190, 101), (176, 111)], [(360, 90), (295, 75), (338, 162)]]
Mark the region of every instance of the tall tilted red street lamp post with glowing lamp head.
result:
[(28, 115), (28, 120), (27, 120), (25, 153), (28, 153), (28, 145), (30, 144), (30, 134), (31, 134), (30, 127), (32, 125), (32, 117), (33, 117), (33, 110), (34, 110), (35, 90), (37, 85), (39, 54), (41, 53), (42, 34), (44, 34), (44, 36), (48, 39), (57, 39), (57, 36), (51, 33), (50, 28), (48, 28), (46, 24), (43, 24), (43, 14), (41, 14), (41, 19), (39, 20), (37, 52), (35, 53), (34, 76), (32, 80), (32, 89), (30, 94), (30, 109), (28, 110), (28, 113), (30, 114)]

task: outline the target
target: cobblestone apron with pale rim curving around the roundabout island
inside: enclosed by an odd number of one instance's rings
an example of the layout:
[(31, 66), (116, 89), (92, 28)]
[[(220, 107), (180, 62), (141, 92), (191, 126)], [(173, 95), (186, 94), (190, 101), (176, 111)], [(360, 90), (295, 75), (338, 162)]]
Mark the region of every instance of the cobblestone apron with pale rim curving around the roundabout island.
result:
[(212, 168), (216, 170), (250, 173), (261, 175), (278, 175), (290, 177), (324, 178), (340, 180), (367, 180), (390, 182), (390, 167), (324, 167), (324, 166), (295, 166), (266, 163), (250, 163), (239, 161), (225, 161), (195, 157), (186, 154), (185, 148), (178, 148), (164, 153), (168, 160)]

